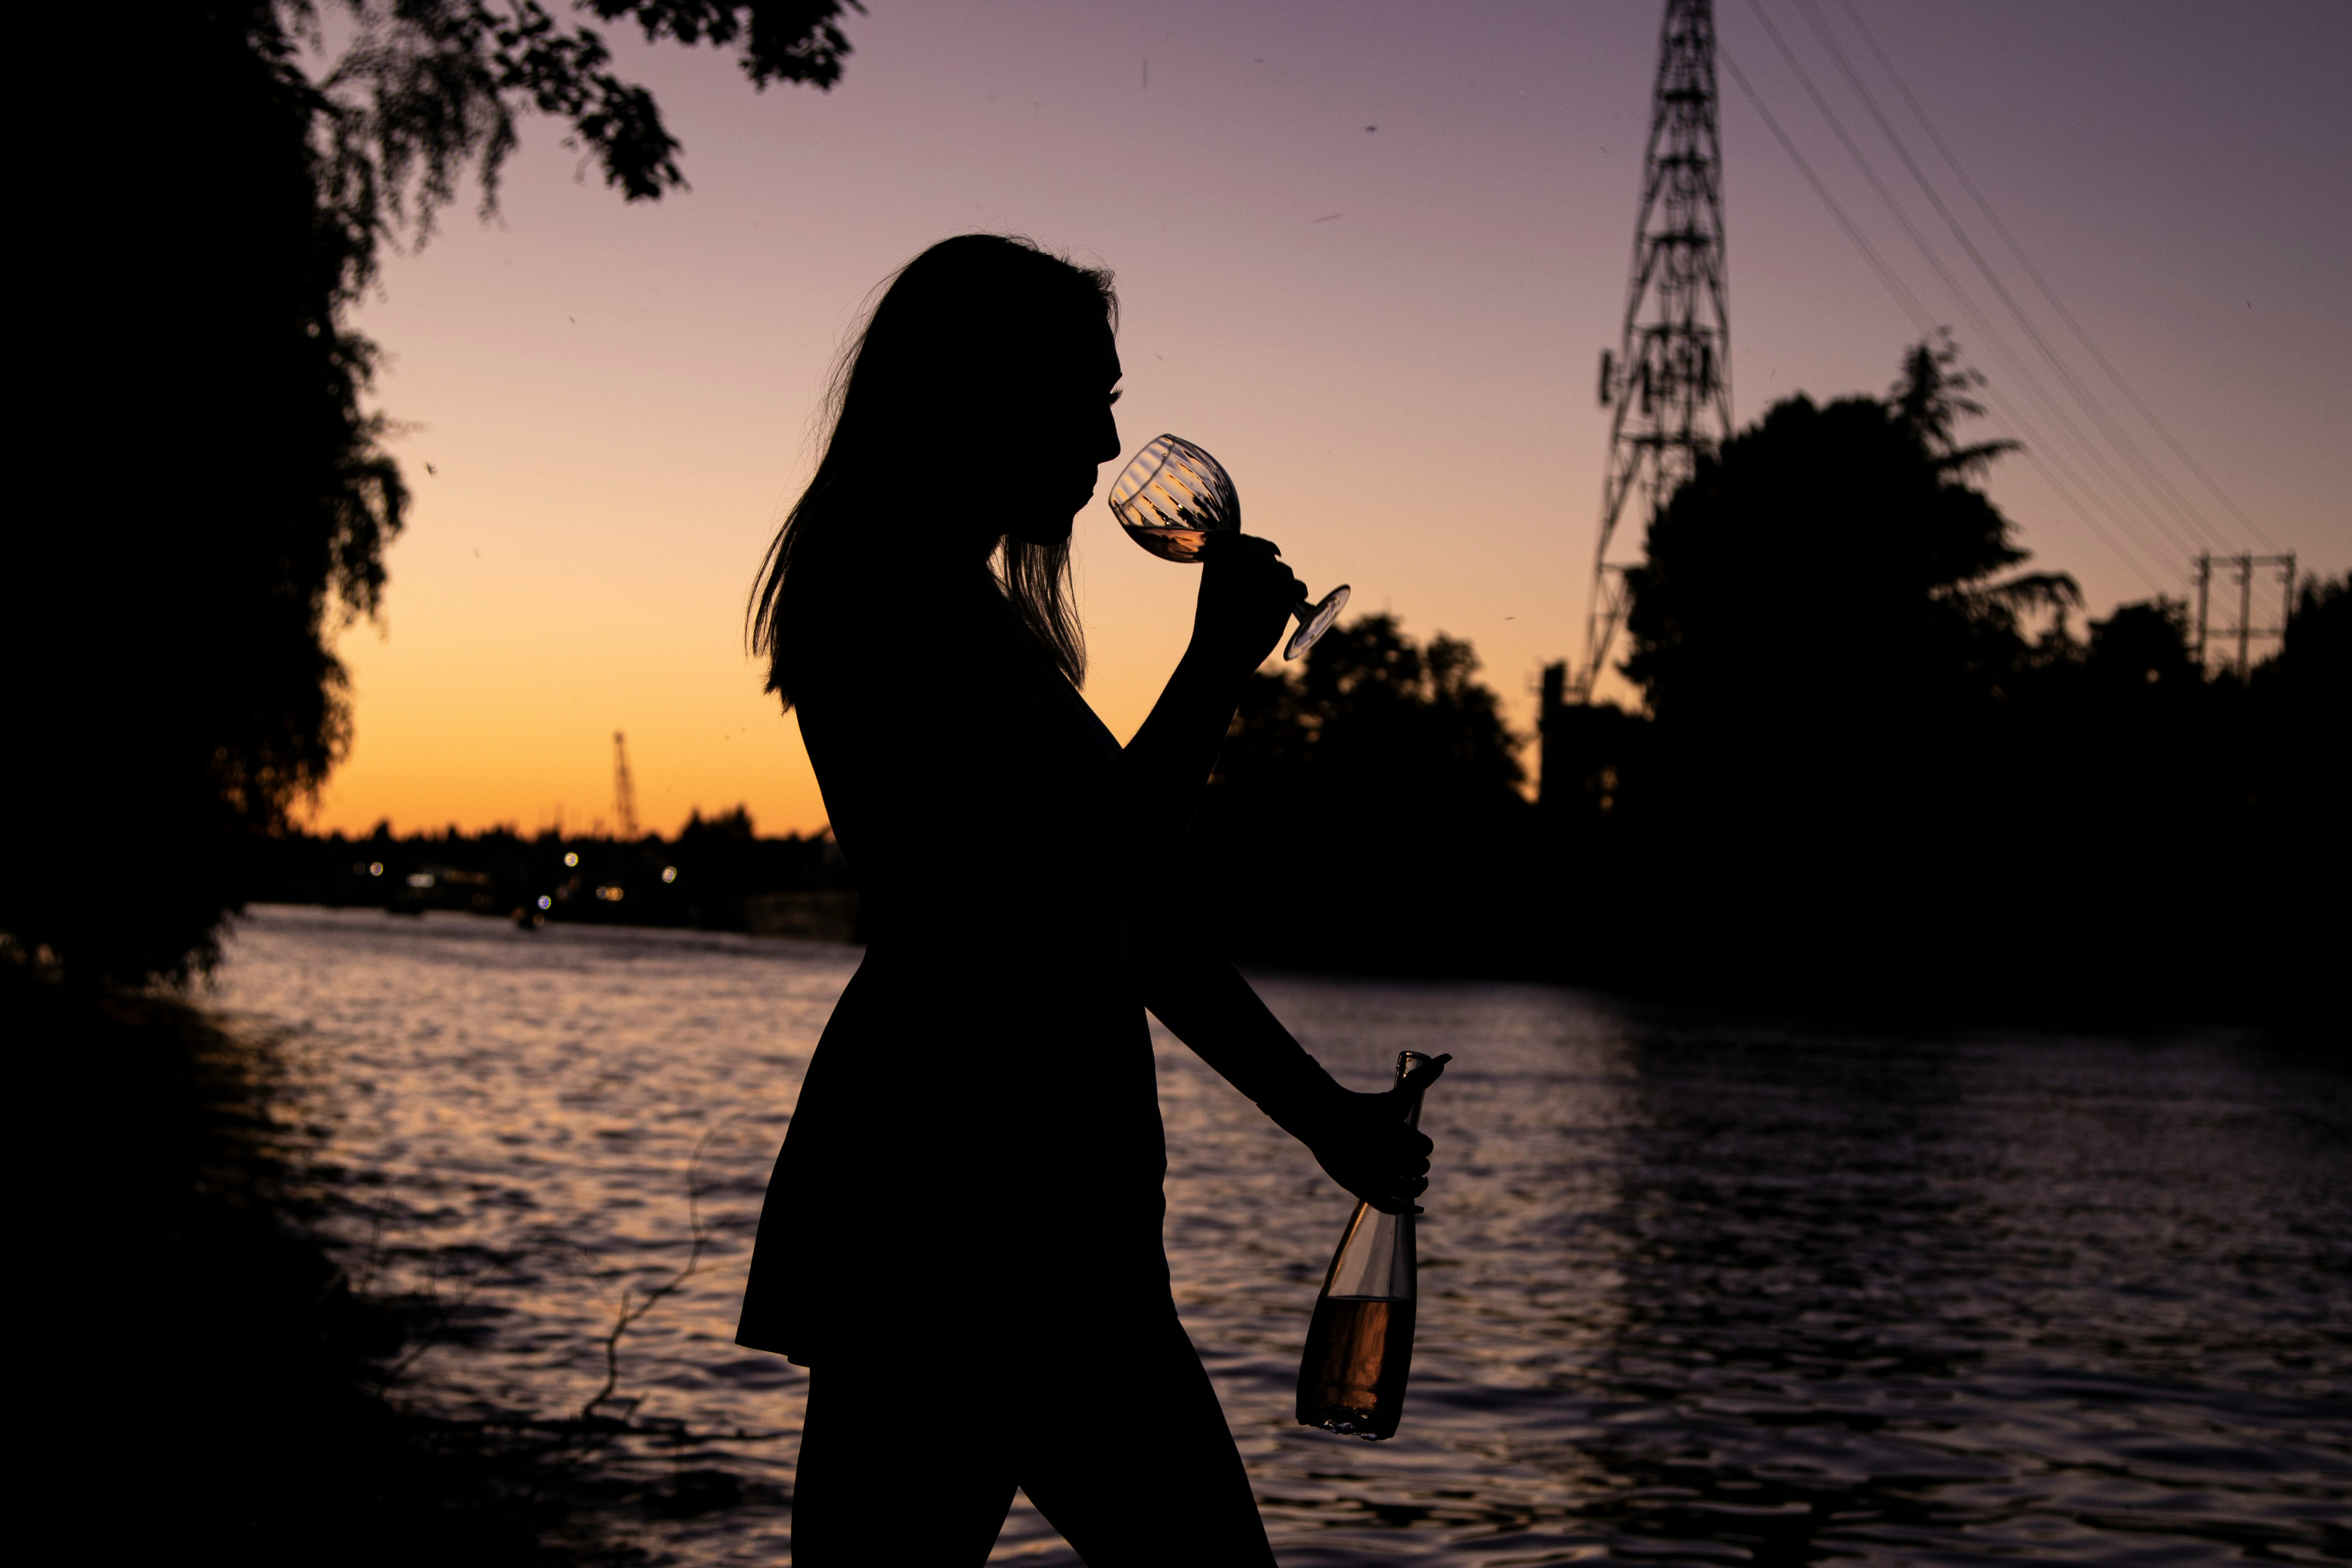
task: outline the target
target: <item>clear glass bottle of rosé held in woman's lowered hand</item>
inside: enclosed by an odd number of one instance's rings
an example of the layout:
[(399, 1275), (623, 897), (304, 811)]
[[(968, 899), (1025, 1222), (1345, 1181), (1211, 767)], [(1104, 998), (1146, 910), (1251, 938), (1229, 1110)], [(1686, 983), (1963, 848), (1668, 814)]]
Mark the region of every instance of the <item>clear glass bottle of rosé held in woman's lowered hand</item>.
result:
[[(1418, 1051), (1399, 1053), (1397, 1081), (1428, 1060)], [(1404, 1124), (1421, 1124), (1418, 1093), (1404, 1110)], [(1298, 1425), (1369, 1441), (1397, 1436), (1411, 1363), (1414, 1213), (1357, 1204), (1331, 1253), (1308, 1349), (1298, 1359)]]

